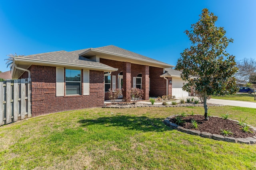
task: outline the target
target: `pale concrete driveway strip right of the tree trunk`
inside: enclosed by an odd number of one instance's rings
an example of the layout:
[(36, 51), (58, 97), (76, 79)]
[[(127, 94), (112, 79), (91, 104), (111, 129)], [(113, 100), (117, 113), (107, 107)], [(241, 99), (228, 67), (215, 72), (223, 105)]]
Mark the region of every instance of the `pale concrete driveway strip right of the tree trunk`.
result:
[(228, 106), (239, 106), (239, 107), (250, 107), (256, 108), (256, 102), (247, 102), (247, 101), (234, 101), (234, 100), (223, 100), (223, 99), (210, 99), (207, 103), (214, 103), (219, 105), (228, 105)]

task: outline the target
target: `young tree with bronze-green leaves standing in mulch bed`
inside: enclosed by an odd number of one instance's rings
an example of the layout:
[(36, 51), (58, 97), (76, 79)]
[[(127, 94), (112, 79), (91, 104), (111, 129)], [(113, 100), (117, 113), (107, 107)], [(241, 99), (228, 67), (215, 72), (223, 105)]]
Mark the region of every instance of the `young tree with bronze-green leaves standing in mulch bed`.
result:
[[(218, 17), (203, 9), (200, 19), (192, 24), (192, 30), (185, 33), (191, 41), (190, 48), (186, 48), (178, 59), (176, 70), (182, 70), (181, 78), (187, 83), (183, 90), (191, 91), (191, 87), (203, 97), (204, 117), (208, 118), (206, 99), (214, 94), (234, 94), (237, 91), (234, 73), (235, 57), (229, 55), (225, 49), (228, 39), (223, 27), (216, 27)], [(191, 77), (198, 77), (191, 79)]]

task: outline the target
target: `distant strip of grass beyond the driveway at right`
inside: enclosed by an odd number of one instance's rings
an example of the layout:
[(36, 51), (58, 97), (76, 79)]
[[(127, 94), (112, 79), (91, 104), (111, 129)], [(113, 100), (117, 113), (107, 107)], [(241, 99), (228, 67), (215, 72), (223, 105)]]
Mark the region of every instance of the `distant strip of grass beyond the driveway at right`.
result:
[(242, 94), (235, 94), (235, 95), (229, 95), (229, 96), (212, 96), (212, 98), (213, 99), (256, 102), (254, 100), (254, 93), (252, 93), (252, 94), (242, 93)]

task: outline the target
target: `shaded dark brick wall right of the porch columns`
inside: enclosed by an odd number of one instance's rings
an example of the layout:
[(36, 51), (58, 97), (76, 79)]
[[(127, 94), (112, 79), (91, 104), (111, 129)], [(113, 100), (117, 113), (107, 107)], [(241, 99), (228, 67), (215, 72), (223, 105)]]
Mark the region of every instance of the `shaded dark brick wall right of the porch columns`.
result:
[(166, 79), (160, 77), (160, 75), (163, 74), (163, 71), (163, 68), (149, 67), (150, 97), (161, 97), (166, 95)]

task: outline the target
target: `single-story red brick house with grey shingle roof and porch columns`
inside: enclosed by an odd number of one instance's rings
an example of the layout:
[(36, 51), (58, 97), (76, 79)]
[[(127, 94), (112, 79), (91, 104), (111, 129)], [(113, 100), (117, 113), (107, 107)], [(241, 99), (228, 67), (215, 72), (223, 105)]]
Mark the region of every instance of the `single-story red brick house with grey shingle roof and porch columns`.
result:
[(32, 116), (101, 107), (109, 88), (123, 88), (122, 97), (131, 87), (143, 99), (172, 95), (179, 77), (165, 75), (173, 65), (114, 45), (14, 57), (13, 64), (13, 78), (32, 79)]

